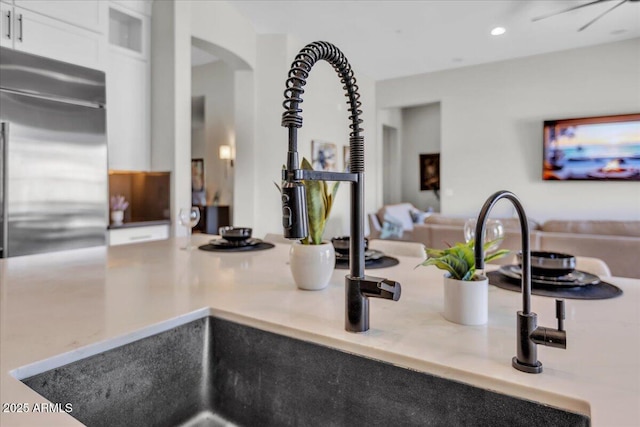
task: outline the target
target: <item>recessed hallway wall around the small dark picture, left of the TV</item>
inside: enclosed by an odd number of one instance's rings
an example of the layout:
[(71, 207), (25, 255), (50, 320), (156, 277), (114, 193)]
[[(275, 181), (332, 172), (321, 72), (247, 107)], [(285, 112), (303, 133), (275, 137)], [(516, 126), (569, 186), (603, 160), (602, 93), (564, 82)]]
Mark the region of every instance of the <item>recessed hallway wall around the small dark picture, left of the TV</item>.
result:
[(420, 190), (420, 154), (440, 152), (440, 104), (402, 109), (402, 201), (440, 211), (433, 191)]

